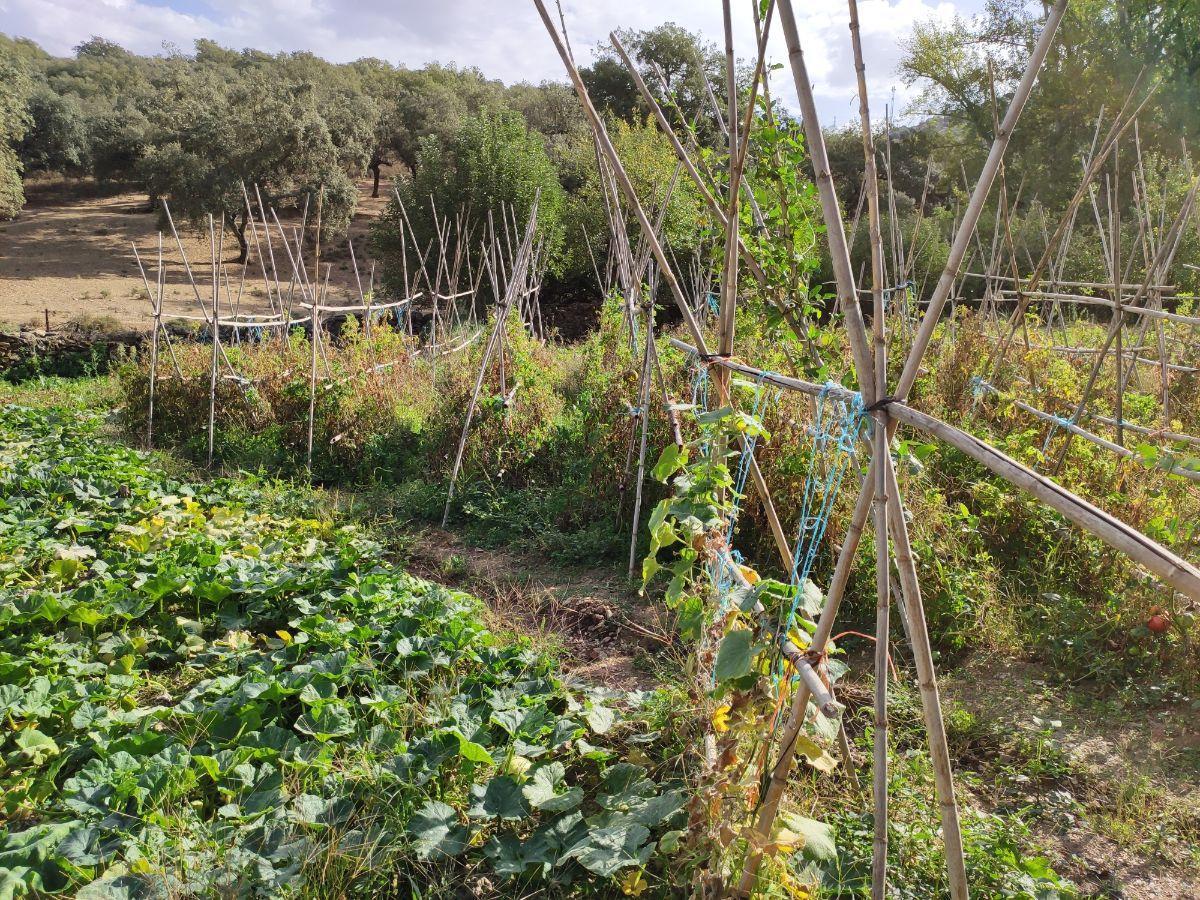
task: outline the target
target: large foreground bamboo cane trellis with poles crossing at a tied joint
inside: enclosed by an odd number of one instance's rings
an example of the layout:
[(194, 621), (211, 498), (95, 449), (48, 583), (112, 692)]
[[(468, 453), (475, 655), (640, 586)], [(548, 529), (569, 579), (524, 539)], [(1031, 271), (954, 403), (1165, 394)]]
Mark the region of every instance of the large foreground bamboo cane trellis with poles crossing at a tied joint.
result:
[[(703, 360), (709, 366), (716, 367), (724, 372), (742, 372), (744, 374), (750, 374), (764, 383), (772, 383), (776, 386), (785, 388), (788, 390), (796, 390), (809, 396), (823, 396), (829, 392), (828, 385), (817, 385), (810, 382), (804, 382), (803, 379), (788, 378), (785, 376), (779, 376), (773, 372), (768, 372), (754, 366), (748, 366), (739, 364), (732, 359), (732, 307), (736, 304), (737, 294), (736, 290), (726, 289), (722, 293), (722, 300), (727, 300), (727, 304), (722, 304), (722, 317), (721, 317), (721, 330), (719, 334), (720, 346), (722, 353), (710, 354), (707, 349), (704, 337), (698, 328), (698, 323), (691, 312), (691, 305), (688, 302), (686, 298), (679, 287), (679, 282), (672, 272), (670, 262), (667, 260), (661, 246), (654, 239), (653, 229), (650, 223), (642, 211), (638, 198), (632, 188), (632, 185), (625, 175), (620, 161), (617, 158), (616, 151), (613, 150), (612, 143), (607, 137), (607, 132), (604, 121), (596, 114), (595, 108), (592, 104), (590, 97), (588, 96), (587, 89), (580, 77), (577, 68), (571, 59), (569, 50), (564, 46), (563, 37), (558, 34), (557, 28), (552, 23), (544, 0), (534, 0), (534, 5), (541, 16), (542, 23), (546, 26), (547, 32), (553, 41), (556, 49), (566, 68), (568, 74), (572, 82), (576, 94), (580, 97), (581, 104), (583, 107), (584, 114), (588, 122), (593, 130), (594, 137), (596, 139), (598, 146), (601, 149), (607, 163), (612, 167), (614, 174), (617, 175), (617, 181), (620, 185), (623, 192), (626, 196), (628, 203), (634, 208), (637, 214), (638, 222), (643, 229), (647, 238), (650, 239), (652, 250), (654, 251), (661, 276), (676, 300), (677, 306), (683, 316), (684, 323), (691, 334), (692, 344), (688, 344), (682, 341), (676, 341), (676, 346), (680, 349), (695, 353), (701, 360)], [(1054, 482), (1051, 479), (1039, 475), (1038, 473), (1028, 469), (1015, 460), (1009, 458), (1003, 452), (991, 446), (984, 440), (980, 440), (965, 431), (961, 431), (947, 422), (935, 419), (934, 416), (926, 415), (918, 409), (908, 406), (907, 397), (913, 388), (917, 379), (918, 368), (925, 353), (929, 349), (930, 342), (934, 337), (934, 331), (941, 319), (942, 311), (946, 304), (950, 300), (954, 286), (960, 278), (960, 270), (962, 268), (964, 258), (971, 245), (972, 239), (977, 240), (976, 230), (978, 227), (979, 217), (983, 211), (984, 203), (997, 174), (1001, 170), (1004, 152), (1007, 150), (1009, 138), (1016, 127), (1018, 120), (1021, 115), (1024, 106), (1028, 100), (1038, 72), (1045, 60), (1045, 56), (1050, 49), (1054, 41), (1054, 36), (1057, 28), (1062, 20), (1066, 12), (1067, 0), (1057, 0), (1054, 6), (1048, 11), (1046, 20), (1043, 26), (1042, 34), (1039, 35), (1037, 43), (1030, 55), (1025, 72), (1016, 85), (1013, 97), (1009, 101), (1008, 108), (1004, 113), (1003, 120), (998, 121), (998, 127), (996, 128), (995, 139), (992, 142), (990, 152), (988, 155), (986, 162), (983, 166), (983, 170), (976, 182), (972, 191), (970, 203), (962, 211), (961, 218), (958, 222), (954, 240), (950, 246), (949, 257), (947, 259), (946, 266), (937, 281), (936, 287), (926, 304), (924, 316), (922, 317), (919, 328), (913, 336), (912, 344), (908, 349), (907, 356), (905, 359), (904, 368), (901, 374), (892, 388), (892, 394), (886, 390), (884, 372), (886, 367), (882, 365), (884, 362), (882, 358), (883, 349), (883, 304), (882, 304), (882, 236), (878, 232), (878, 198), (877, 192), (871, 192), (868, 196), (869, 216), (871, 217), (871, 251), (872, 251), (872, 296), (875, 299), (875, 314), (872, 323), (874, 330), (874, 348), (868, 338), (866, 328), (862, 316), (860, 307), (857, 300), (857, 290), (854, 287), (854, 276), (850, 266), (850, 254), (848, 247), (846, 245), (844, 223), (841, 218), (841, 209), (838, 203), (836, 193), (833, 185), (833, 179), (830, 176), (829, 163), (826, 157), (823, 137), (821, 133), (820, 121), (816, 115), (816, 106), (814, 102), (810, 79), (804, 64), (803, 49), (799, 41), (798, 30), (796, 26), (794, 14), (792, 12), (790, 0), (779, 0), (778, 12), (781, 20), (781, 26), (784, 30), (785, 40), (788, 49), (788, 59), (794, 77), (796, 91), (800, 103), (803, 126), (805, 136), (808, 139), (808, 146), (811, 156), (814, 178), (820, 192), (822, 214), (826, 224), (827, 239), (829, 241), (829, 251), (836, 275), (838, 284), (838, 300), (839, 307), (842, 312), (845, 326), (847, 329), (847, 337), (851, 346), (851, 353), (854, 362), (854, 368), (857, 371), (857, 382), (859, 384), (859, 391), (851, 391), (848, 389), (842, 389), (845, 396), (860, 398), (865, 409), (876, 414), (876, 428), (875, 428), (875, 440), (871, 444), (871, 462), (869, 470), (863, 481), (863, 487), (859, 493), (858, 502), (854, 506), (854, 512), (851, 517), (850, 526), (847, 528), (846, 535), (844, 536), (841, 550), (838, 554), (836, 566), (834, 569), (833, 578), (828, 586), (824, 607), (821, 612), (820, 618), (816, 624), (816, 634), (810, 643), (810, 652), (821, 654), (824, 650), (827, 642), (829, 641), (833, 632), (833, 623), (836, 617), (838, 607), (840, 605), (842, 594), (846, 588), (846, 583), (850, 577), (850, 569), (857, 551), (859, 538), (865, 527), (868, 514), (871, 509), (875, 510), (875, 530), (876, 530), (876, 557), (877, 557), (877, 628), (880, 634), (876, 635), (876, 641), (878, 646), (886, 646), (888, 635), (886, 634), (887, 624), (887, 608), (889, 604), (889, 589), (888, 589), (888, 571), (889, 564), (887, 562), (888, 556), (896, 566), (896, 571), (900, 576), (901, 596), (907, 613), (907, 623), (910, 630), (910, 643), (913, 650), (913, 658), (917, 667), (917, 676), (920, 686), (922, 707), (925, 720), (926, 733), (930, 743), (930, 752), (932, 756), (934, 769), (935, 769), (935, 784), (938, 794), (938, 804), (942, 820), (942, 833), (943, 840), (946, 842), (946, 857), (947, 857), (947, 869), (949, 876), (949, 888), (950, 895), (954, 900), (961, 900), (967, 898), (967, 877), (965, 858), (962, 852), (961, 842), (961, 829), (958, 818), (958, 804), (954, 797), (953, 775), (950, 772), (949, 752), (946, 743), (944, 725), (942, 722), (941, 706), (937, 692), (937, 680), (936, 672), (932, 664), (932, 654), (929, 646), (929, 635), (925, 623), (924, 610), (920, 598), (920, 586), (917, 576), (916, 565), (912, 557), (912, 548), (908, 542), (907, 524), (904, 517), (902, 509), (902, 496), (899, 490), (899, 484), (896, 480), (895, 468), (888, 452), (890, 437), (895, 433), (895, 430), (902, 422), (910, 427), (914, 427), (923, 431), (942, 442), (956, 448), (961, 452), (971, 456), (977, 462), (982, 463), (989, 468), (995, 474), (1000, 475), (1002, 479), (1007, 480), (1015, 487), (1019, 487), (1037, 499), (1042, 500), (1046, 505), (1051, 506), (1066, 518), (1075, 523), (1076, 526), (1084, 528), (1085, 530), (1092, 533), (1100, 540), (1109, 544), (1111, 547), (1118, 550), (1120, 552), (1128, 556), (1132, 560), (1139, 565), (1145, 566), (1158, 576), (1163, 582), (1169, 584), (1171, 588), (1180, 590), (1188, 596), (1194, 599), (1200, 599), (1200, 570), (1190, 565), (1186, 560), (1181, 559), (1176, 554), (1171, 553), (1165, 547), (1162, 547), (1156, 541), (1140, 534), (1136, 529), (1126, 526), (1115, 517), (1108, 515), (1103, 510), (1097, 509), (1092, 504), (1075, 496), (1070, 491), (1067, 491), (1062, 486)], [(728, 28), (730, 22), (730, 2), (724, 0), (724, 13), (726, 28)], [(768, 16), (770, 12), (768, 11)], [(865, 78), (863, 76), (863, 60), (862, 49), (858, 37), (858, 17), (854, 0), (850, 0), (850, 16), (851, 16), (851, 31), (856, 49), (856, 68), (858, 74), (858, 83), (860, 89), (859, 102), (862, 104), (862, 118), (864, 126), (864, 149), (865, 149), (865, 161), (870, 169), (874, 169), (874, 148), (871, 146), (871, 131), (870, 131), (870, 119), (869, 119), (869, 106), (868, 97), (865, 95)], [(632, 70), (628, 55), (620, 48), (619, 42), (613, 36), (613, 43), (618, 48), (618, 53), (622, 55), (626, 65)], [(728, 35), (726, 36), (726, 44), (728, 47)], [(761, 73), (761, 68), (756, 74)], [(686, 160), (686, 150), (684, 150), (680, 142), (673, 136), (670, 124), (666, 121), (665, 115), (661, 109), (654, 103), (653, 98), (649, 97), (648, 90), (646, 90), (644, 83), (635, 74), (635, 83), (638, 90), (642, 92), (643, 98), (646, 98), (655, 115), (660, 127), (671, 139), (672, 146), (679, 155), (680, 160)], [(1132, 98), (1133, 94), (1130, 94)], [(731, 100), (734, 97), (733, 91), (731, 91)], [(731, 103), (731, 109), (728, 110), (728, 120), (732, 122), (736, 120), (737, 110)], [(998, 118), (998, 116), (997, 116)], [(1132, 119), (1132, 116), (1130, 116)], [(1121, 119), (1118, 116), (1117, 122)], [(1128, 120), (1126, 124), (1128, 127)], [(1120, 137), (1123, 128), (1116, 130), (1116, 137)], [(1111, 137), (1111, 134), (1110, 134)], [(730, 209), (736, 211), (737, 206), (737, 172), (740, 161), (737, 158), (737, 151), (732, 150), (734, 142), (732, 140), (731, 133), (731, 155), (733, 162), (731, 164), (731, 181), (733, 182), (728, 193), (730, 197)], [(1111, 146), (1109, 142), (1105, 142), (1105, 146)], [(1097, 157), (1103, 157), (1103, 154), (1097, 154)], [(1093, 167), (1098, 169), (1098, 163), (1096, 158), (1092, 161)], [(701, 178), (696, 167), (692, 164), (686, 166), (689, 175), (692, 176), (697, 184), (701, 182)], [(701, 184), (702, 194), (706, 198), (710, 210), (714, 212), (714, 218), (721, 222), (721, 210), (720, 204), (715, 196), (703, 190)], [(874, 194), (874, 196), (871, 196)], [(1078, 204), (1078, 200), (1075, 202)], [(736, 217), (725, 217), (722, 224), (726, 227), (727, 246), (739, 247), (742, 250), (742, 258), (745, 259), (744, 246), (737, 241), (737, 224)], [(731, 270), (736, 269), (736, 260), (738, 259), (738, 253), (726, 253), (726, 270), (721, 272), (722, 286), (734, 284), (736, 274)], [(755, 264), (752, 259), (745, 260), (748, 263), (748, 269), (755, 270)], [(1043, 260), (1043, 264), (1038, 266), (1038, 276), (1030, 280), (1028, 289), (1036, 289), (1038, 278), (1040, 277), (1040, 270), (1044, 265), (1049, 264), (1049, 258)], [(1024, 298), (1021, 298), (1024, 301)], [(1120, 300), (1117, 301), (1120, 302)], [(1019, 302), (1019, 308), (1021, 302)], [(1118, 310), (1120, 314), (1123, 314)], [(1015, 322), (1015, 313), (1014, 313)], [(1015, 328), (1015, 324), (1013, 325)], [(722, 389), (722, 379), (715, 379), (718, 389), (721, 390), (722, 402), (726, 400), (726, 394)], [(752, 461), (752, 457), (751, 457)], [(755, 470), (756, 476), (754, 478), (755, 486), (760, 498), (763, 502), (763, 506), (768, 510), (768, 517), (772, 520), (773, 530), (775, 529), (775, 522), (778, 521), (778, 515), (774, 512), (774, 506), (770, 503), (769, 491), (763, 482), (761, 473)], [(886, 521), (886, 527), (884, 527)], [(890, 538), (892, 546), (888, 546), (888, 538)], [(883, 557), (882, 559), (880, 557)], [(886, 656), (884, 656), (886, 659)], [(878, 671), (880, 665), (877, 662), (877, 676), (881, 674)], [(880, 724), (886, 722), (886, 679), (880, 679), (883, 682), (883, 686), (880, 689), (881, 696), (877, 697), (877, 716)], [(791, 704), (791, 710), (785, 720), (781, 732), (781, 743), (784, 750), (780, 752), (778, 761), (775, 762), (770, 780), (768, 782), (766, 794), (760, 799), (758, 804), (758, 816), (757, 822), (754, 826), (754, 836), (746, 834), (750, 838), (748, 840), (748, 856), (745, 865), (743, 869), (743, 875), (740, 883), (732, 889), (732, 893), (737, 896), (749, 896), (756, 884), (757, 868), (762, 858), (762, 852), (758, 850), (764, 846), (772, 827), (774, 818), (779, 810), (779, 804), (782, 798), (784, 788), (786, 786), (787, 775), (791, 770), (792, 760), (794, 756), (796, 737), (798, 736), (800, 728), (803, 727), (804, 720), (808, 715), (808, 701), (809, 691), (805, 690), (804, 682), (802, 679), (802, 686), (796, 690), (793, 695), (793, 701)], [(886, 739), (886, 736), (884, 736)], [(886, 748), (884, 748), (886, 750)], [(886, 761), (886, 755), (876, 757), (876, 767), (878, 768), (882, 761)], [(886, 791), (886, 778), (881, 778), (878, 772), (876, 773), (876, 793)], [(886, 799), (882, 797), (876, 797), (876, 815), (886, 815)], [(876, 850), (872, 865), (872, 895), (883, 896), (886, 892), (886, 832), (883, 828), (886, 823), (876, 823)]]

